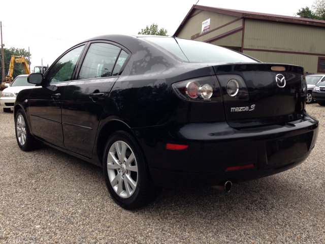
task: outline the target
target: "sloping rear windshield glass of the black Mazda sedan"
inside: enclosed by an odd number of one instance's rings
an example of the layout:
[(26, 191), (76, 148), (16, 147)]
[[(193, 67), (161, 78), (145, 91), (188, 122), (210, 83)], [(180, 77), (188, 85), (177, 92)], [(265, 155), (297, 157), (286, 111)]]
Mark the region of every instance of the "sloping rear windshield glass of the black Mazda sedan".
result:
[(255, 59), (241, 53), (205, 42), (166, 37), (144, 37), (190, 63), (257, 63)]

